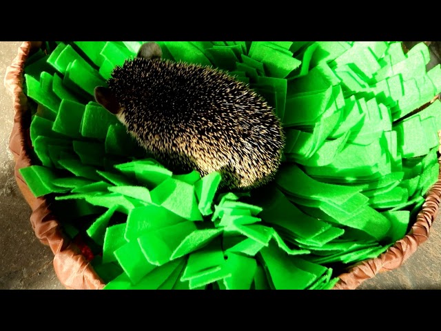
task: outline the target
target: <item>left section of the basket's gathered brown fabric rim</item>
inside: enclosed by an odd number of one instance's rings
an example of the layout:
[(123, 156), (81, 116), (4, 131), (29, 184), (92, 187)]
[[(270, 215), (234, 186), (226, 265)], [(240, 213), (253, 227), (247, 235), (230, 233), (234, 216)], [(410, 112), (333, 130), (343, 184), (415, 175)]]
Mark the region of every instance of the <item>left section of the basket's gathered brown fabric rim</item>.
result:
[(94, 272), (90, 262), (85, 261), (85, 257), (76, 249), (74, 244), (63, 236), (63, 231), (57, 219), (48, 209), (46, 199), (44, 197), (34, 197), (19, 173), (21, 168), (32, 164), (21, 134), (23, 132), (21, 117), (23, 112), (28, 111), (28, 98), (23, 92), (24, 63), (31, 50), (40, 48), (41, 44), (39, 41), (23, 41), (18, 49), (17, 56), (6, 68), (3, 81), (6, 90), (12, 95), (14, 108), (14, 123), (9, 141), (9, 149), (15, 161), (14, 177), (21, 194), (23, 194), (32, 210), (30, 223), (37, 239), (44, 245), (49, 245), (54, 254), (54, 271), (59, 281), (66, 289), (101, 289), (105, 284)]

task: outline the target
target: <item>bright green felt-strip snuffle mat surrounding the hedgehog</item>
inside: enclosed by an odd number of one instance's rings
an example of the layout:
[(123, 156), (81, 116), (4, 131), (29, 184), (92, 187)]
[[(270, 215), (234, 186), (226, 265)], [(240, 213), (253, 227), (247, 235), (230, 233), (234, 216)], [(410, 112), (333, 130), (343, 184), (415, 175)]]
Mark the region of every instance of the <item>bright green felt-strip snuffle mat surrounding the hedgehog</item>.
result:
[(24, 68), (20, 173), (104, 289), (330, 289), (407, 234), (439, 173), (441, 68), (426, 70), (424, 43), (158, 41), (164, 59), (249, 84), (282, 121), (276, 178), (247, 192), (174, 174), (94, 101), (142, 43), (46, 42)]

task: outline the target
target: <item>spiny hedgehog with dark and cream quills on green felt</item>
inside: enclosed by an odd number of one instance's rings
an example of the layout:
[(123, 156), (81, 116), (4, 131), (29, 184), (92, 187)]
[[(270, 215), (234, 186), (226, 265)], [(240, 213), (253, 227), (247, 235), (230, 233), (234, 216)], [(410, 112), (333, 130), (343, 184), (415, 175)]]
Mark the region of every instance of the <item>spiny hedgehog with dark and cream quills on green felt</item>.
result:
[(249, 84), (212, 66), (162, 59), (158, 43), (116, 66), (94, 97), (174, 173), (219, 172), (219, 188), (274, 179), (285, 145), (280, 119)]

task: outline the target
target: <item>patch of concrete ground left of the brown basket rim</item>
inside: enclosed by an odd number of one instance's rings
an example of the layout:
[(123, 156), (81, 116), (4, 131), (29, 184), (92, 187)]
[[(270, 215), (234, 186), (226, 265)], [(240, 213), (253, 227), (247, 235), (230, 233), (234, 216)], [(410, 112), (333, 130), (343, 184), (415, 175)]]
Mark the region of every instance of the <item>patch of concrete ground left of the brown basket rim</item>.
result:
[(61, 290), (64, 286), (54, 272), (52, 251), (32, 230), (31, 210), (14, 180), (9, 150), (14, 110), (3, 78), (21, 43), (0, 41), (0, 289)]

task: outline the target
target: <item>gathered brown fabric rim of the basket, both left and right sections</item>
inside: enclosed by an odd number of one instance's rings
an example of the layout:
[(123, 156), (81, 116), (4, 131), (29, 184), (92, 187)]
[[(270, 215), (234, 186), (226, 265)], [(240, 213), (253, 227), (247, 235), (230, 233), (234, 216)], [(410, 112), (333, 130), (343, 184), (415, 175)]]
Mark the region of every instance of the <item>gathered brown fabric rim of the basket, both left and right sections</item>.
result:
[[(23, 197), (30, 205), (32, 214), (30, 222), (37, 238), (44, 245), (49, 245), (54, 254), (54, 270), (59, 281), (68, 289), (101, 289), (105, 283), (94, 272), (76, 243), (68, 239), (61, 230), (57, 217), (50, 212), (45, 197), (36, 198), (30, 192), (19, 169), (32, 165), (28, 154), (30, 146), (30, 109), (28, 98), (23, 92), (23, 70), (26, 59), (32, 52), (41, 47), (41, 42), (25, 41), (19, 47), (6, 70), (5, 86), (12, 94), (14, 108), (14, 126), (10, 135), (10, 150), (14, 156), (14, 174)], [(407, 235), (396, 241), (380, 256), (362, 261), (347, 268), (340, 274), (340, 280), (334, 289), (355, 289), (363, 281), (375, 277), (380, 272), (399, 268), (429, 237), (433, 220), (438, 214), (441, 201), (441, 179), (428, 192), (422, 210)]]

